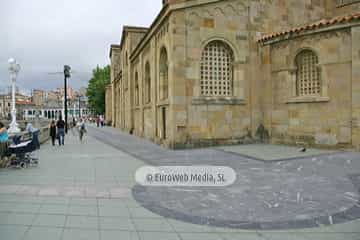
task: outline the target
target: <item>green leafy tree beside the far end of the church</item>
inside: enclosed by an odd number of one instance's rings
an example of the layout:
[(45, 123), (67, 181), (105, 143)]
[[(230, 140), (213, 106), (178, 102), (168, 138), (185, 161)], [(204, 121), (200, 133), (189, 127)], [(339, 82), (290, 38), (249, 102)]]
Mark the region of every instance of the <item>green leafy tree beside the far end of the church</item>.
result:
[(89, 105), (97, 114), (105, 113), (105, 88), (110, 83), (110, 66), (93, 70), (93, 76), (89, 81), (86, 96)]

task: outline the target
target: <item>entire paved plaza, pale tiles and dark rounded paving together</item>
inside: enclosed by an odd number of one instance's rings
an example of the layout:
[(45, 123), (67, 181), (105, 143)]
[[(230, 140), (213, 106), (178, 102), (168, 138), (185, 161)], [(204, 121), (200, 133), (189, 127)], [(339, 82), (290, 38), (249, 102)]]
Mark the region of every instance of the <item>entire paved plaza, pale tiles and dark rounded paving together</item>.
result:
[[(172, 151), (93, 127), (81, 144), (70, 132), (42, 146), (38, 167), (0, 170), (0, 239), (360, 239), (359, 153), (252, 147)], [(237, 181), (144, 187), (144, 165), (229, 166)]]

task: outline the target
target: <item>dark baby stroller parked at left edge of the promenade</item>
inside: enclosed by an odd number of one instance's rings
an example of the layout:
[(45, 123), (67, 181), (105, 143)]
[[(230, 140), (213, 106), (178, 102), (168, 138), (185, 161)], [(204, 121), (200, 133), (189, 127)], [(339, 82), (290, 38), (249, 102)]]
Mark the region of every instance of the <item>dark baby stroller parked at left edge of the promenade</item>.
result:
[(13, 144), (9, 146), (9, 153), (15, 156), (11, 161), (11, 166), (27, 168), (36, 166), (39, 162), (37, 158), (32, 157), (32, 153), (40, 148), (38, 141), (39, 132), (33, 132), (30, 140), (21, 141), (21, 136), (13, 139)]

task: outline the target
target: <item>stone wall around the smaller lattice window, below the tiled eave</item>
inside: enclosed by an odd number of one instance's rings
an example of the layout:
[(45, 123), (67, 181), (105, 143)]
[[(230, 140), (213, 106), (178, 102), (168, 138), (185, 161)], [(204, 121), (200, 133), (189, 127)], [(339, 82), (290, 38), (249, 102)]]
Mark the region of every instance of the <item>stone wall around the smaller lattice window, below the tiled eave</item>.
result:
[[(352, 39), (350, 29), (317, 33), (271, 45), (271, 105), (266, 127), (272, 141), (351, 144)], [(295, 58), (310, 49), (319, 59), (321, 95), (297, 97)]]

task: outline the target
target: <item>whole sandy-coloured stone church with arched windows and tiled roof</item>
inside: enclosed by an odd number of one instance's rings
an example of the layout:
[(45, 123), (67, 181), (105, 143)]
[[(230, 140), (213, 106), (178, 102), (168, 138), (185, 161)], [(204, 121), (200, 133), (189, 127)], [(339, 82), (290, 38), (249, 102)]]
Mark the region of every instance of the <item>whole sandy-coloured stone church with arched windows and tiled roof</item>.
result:
[(106, 118), (167, 147), (360, 147), (359, 0), (163, 1), (110, 58)]

